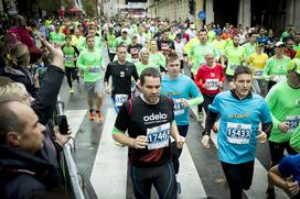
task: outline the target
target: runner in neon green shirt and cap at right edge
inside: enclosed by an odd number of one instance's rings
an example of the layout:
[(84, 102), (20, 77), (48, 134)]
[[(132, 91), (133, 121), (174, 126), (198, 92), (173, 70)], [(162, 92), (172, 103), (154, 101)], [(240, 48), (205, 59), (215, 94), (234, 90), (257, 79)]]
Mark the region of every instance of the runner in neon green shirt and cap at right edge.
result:
[[(285, 150), (297, 154), (289, 143), (300, 123), (300, 59), (290, 60), (287, 70), (287, 80), (275, 85), (266, 97), (274, 123), (269, 137), (271, 166), (283, 158)], [(275, 198), (272, 185), (269, 185), (266, 196)]]

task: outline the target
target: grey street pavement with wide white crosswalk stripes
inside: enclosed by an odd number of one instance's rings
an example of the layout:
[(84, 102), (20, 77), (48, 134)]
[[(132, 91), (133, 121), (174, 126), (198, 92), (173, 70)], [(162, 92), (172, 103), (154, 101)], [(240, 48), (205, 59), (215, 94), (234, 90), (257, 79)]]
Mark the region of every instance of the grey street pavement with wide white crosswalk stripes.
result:
[[(103, 49), (106, 63), (107, 52)], [(75, 93), (71, 95), (64, 79), (61, 98), (65, 103), (65, 113), (75, 131), (75, 150), (73, 157), (78, 173), (84, 178), (86, 198), (92, 199), (133, 199), (127, 166), (127, 147), (115, 145), (111, 139), (116, 113), (109, 96), (103, 102), (101, 113), (105, 122), (89, 121), (86, 93), (83, 82), (74, 82)], [(179, 180), (182, 186), (182, 199), (201, 199), (206, 197), (227, 199), (229, 189), (217, 159), (216, 134), (212, 133), (211, 147), (201, 145), (203, 126), (196, 121), (195, 109), (190, 112), (190, 128), (186, 145), (180, 158)], [(270, 161), (268, 144), (258, 144), (255, 175), (250, 190), (244, 198), (262, 199), (267, 189), (267, 168)], [(277, 189), (278, 198), (288, 198)], [(159, 198), (152, 190), (153, 199)]]

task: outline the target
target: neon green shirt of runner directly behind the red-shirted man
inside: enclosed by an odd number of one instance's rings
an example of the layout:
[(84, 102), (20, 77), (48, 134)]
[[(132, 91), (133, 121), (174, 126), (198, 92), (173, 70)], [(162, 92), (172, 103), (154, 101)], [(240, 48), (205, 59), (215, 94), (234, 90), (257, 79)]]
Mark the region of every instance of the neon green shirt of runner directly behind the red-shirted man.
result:
[(201, 43), (195, 43), (190, 51), (190, 57), (194, 60), (193, 67), (191, 71), (193, 74), (196, 74), (200, 66), (205, 64), (204, 55), (206, 52), (212, 52), (214, 54), (214, 57), (217, 57), (217, 51), (215, 46), (211, 43), (207, 43), (206, 45), (202, 45)]

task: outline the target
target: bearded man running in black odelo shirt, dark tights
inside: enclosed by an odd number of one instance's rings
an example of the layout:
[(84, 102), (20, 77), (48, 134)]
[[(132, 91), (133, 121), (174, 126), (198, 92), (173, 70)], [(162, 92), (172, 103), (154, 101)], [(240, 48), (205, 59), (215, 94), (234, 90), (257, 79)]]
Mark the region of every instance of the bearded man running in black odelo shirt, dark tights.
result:
[[(182, 147), (174, 121), (173, 101), (161, 96), (161, 77), (154, 68), (140, 76), (142, 93), (126, 101), (116, 119), (113, 137), (129, 146), (129, 170), (136, 198), (151, 196), (151, 187), (160, 198), (176, 198), (176, 178), (171, 161), (172, 136)], [(125, 132), (128, 130), (128, 135)]]

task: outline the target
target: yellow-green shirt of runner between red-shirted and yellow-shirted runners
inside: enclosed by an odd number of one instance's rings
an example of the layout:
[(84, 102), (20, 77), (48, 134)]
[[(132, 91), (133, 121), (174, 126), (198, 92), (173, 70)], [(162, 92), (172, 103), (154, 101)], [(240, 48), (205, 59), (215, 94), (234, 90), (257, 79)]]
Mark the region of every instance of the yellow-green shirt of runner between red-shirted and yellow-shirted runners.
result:
[(227, 68), (225, 74), (233, 76), (235, 73), (235, 69), (238, 66), (243, 65), (243, 60), (246, 57), (245, 49), (242, 46), (228, 46), (224, 51), (224, 56), (227, 57), (228, 63), (227, 63)]

